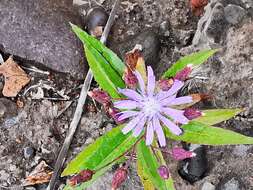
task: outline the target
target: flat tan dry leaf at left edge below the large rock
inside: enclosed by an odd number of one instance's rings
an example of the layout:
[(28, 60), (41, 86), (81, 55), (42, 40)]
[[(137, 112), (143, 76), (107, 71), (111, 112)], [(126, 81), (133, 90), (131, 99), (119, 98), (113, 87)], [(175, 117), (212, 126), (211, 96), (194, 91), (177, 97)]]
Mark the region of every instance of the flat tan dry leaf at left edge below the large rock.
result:
[(2, 65), (0, 65), (0, 74), (4, 75), (5, 83), (3, 95), (6, 97), (15, 97), (19, 91), (30, 82), (28, 75), (9, 57)]

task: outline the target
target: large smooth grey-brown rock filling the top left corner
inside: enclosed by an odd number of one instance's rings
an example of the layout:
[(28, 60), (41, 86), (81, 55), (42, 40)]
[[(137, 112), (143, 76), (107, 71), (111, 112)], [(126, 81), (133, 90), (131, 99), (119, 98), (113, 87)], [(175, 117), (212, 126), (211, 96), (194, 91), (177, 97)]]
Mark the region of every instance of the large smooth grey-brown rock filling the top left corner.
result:
[(82, 20), (72, 1), (2, 0), (0, 17), (0, 51), (27, 64), (83, 77), (83, 48), (69, 25), (81, 26)]

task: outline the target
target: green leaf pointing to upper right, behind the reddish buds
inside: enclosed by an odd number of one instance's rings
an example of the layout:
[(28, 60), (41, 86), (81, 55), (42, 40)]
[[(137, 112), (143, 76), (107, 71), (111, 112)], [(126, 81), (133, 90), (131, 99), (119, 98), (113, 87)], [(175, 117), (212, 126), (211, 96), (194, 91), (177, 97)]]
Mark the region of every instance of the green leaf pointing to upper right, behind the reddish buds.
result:
[(218, 49), (203, 50), (182, 57), (163, 74), (163, 78), (174, 77), (179, 71), (183, 70), (189, 64), (192, 64), (193, 67), (200, 65), (217, 51)]

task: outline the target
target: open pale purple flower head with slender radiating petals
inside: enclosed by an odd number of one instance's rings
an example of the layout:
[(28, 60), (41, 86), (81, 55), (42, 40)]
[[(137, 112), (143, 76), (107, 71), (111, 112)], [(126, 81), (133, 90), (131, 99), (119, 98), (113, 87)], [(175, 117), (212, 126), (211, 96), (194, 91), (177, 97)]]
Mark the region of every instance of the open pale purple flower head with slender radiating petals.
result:
[(184, 116), (183, 110), (173, 108), (181, 104), (191, 103), (191, 96), (176, 97), (177, 92), (184, 83), (175, 80), (167, 91), (156, 89), (156, 81), (153, 70), (147, 67), (148, 77), (145, 84), (139, 72), (134, 74), (138, 79), (138, 88), (119, 89), (119, 93), (127, 99), (115, 101), (114, 107), (121, 110), (118, 120), (129, 119), (122, 129), (124, 134), (133, 131), (135, 137), (139, 136), (144, 127), (146, 130), (146, 144), (153, 142), (156, 133), (160, 146), (166, 145), (162, 125), (166, 126), (173, 134), (180, 135), (182, 130), (178, 124), (187, 124), (189, 120)]

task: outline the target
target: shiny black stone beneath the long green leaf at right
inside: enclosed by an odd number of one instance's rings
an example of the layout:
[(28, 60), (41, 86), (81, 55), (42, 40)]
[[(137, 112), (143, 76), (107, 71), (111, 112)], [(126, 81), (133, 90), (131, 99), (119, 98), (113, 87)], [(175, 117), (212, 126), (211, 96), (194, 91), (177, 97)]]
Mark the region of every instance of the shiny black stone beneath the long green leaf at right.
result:
[(194, 151), (196, 156), (182, 161), (178, 172), (183, 179), (194, 183), (204, 177), (208, 163), (204, 146), (199, 145), (195, 148), (190, 148), (190, 150)]

